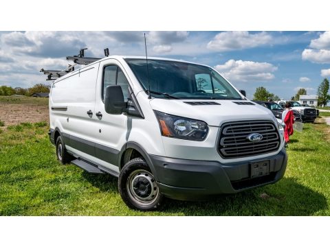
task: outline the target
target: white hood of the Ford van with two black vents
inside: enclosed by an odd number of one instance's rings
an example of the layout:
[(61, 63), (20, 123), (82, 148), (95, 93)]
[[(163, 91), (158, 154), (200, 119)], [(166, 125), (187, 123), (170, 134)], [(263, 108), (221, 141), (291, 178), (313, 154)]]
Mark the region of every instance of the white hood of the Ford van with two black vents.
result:
[[(215, 102), (217, 104), (187, 104), (189, 102)], [(243, 105), (236, 104), (235, 102), (243, 102)], [(253, 105), (247, 105), (246, 103), (248, 102)], [(275, 121), (275, 124), (277, 123), (276, 118), (269, 109), (248, 100), (154, 98), (151, 99), (150, 105), (153, 110), (179, 117), (205, 121), (209, 126), (221, 126), (221, 124), (227, 121), (244, 120), (271, 120)]]

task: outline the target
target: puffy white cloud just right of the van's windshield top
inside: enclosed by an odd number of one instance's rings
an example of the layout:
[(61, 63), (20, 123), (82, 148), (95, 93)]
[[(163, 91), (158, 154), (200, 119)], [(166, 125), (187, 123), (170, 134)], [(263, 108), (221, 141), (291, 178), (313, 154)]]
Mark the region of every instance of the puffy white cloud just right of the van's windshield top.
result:
[(274, 79), (273, 72), (277, 70), (277, 67), (268, 62), (235, 61), (231, 59), (225, 64), (218, 64), (215, 69), (230, 80), (250, 82)]

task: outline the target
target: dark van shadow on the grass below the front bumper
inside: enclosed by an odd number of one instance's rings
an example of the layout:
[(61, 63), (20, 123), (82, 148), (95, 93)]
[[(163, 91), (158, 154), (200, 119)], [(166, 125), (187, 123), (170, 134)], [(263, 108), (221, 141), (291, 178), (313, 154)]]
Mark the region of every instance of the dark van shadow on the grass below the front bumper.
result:
[(184, 215), (314, 215), (327, 209), (327, 199), (294, 178), (283, 178), (274, 185), (208, 201), (167, 200), (166, 205), (164, 211)]

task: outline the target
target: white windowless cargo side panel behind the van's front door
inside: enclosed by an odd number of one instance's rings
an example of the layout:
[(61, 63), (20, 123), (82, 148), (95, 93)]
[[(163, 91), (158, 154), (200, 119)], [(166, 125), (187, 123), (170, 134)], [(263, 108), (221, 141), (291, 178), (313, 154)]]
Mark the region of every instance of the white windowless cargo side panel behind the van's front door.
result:
[[(58, 127), (61, 132), (91, 139), (93, 119), (87, 111), (94, 113), (97, 75), (98, 63), (54, 82), (50, 95), (51, 128)], [(52, 107), (67, 107), (67, 110), (52, 110)]]

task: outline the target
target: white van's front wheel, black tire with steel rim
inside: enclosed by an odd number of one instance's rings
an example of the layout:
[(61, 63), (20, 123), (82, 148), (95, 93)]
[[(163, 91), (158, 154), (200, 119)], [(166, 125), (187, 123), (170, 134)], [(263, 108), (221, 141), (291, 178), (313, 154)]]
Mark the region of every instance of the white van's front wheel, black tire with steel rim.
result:
[(152, 211), (158, 209), (164, 199), (150, 167), (142, 158), (133, 158), (122, 167), (118, 189), (122, 200), (131, 209)]

